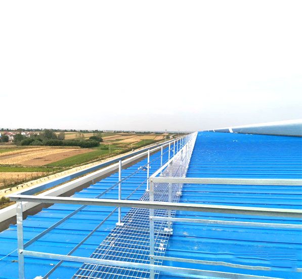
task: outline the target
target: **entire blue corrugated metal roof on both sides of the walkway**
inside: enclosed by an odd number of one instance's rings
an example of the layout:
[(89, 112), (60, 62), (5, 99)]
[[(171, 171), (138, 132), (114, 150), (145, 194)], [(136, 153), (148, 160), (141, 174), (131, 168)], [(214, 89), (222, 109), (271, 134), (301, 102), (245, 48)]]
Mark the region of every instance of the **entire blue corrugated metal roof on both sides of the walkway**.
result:
[[(157, 153), (151, 160), (159, 157)], [(167, 154), (165, 155), (167, 156)], [(165, 158), (166, 159), (166, 158)], [(122, 171), (126, 176), (147, 160)], [(152, 164), (151, 173), (159, 168), (159, 160)], [(187, 177), (235, 177), (235, 178), (302, 178), (302, 138), (289, 136), (250, 135), (237, 133), (199, 132), (191, 157)], [(139, 172), (122, 183), (122, 199), (129, 195), (146, 177)], [(94, 198), (117, 182), (118, 174), (103, 179), (74, 195)], [(132, 199), (140, 199), (145, 187)], [(192, 185), (185, 184), (181, 202), (233, 206), (259, 206), (272, 208), (302, 207), (301, 187), (259, 185)], [(112, 190), (105, 198), (117, 198)], [(25, 242), (42, 230), (59, 221), (79, 206), (53, 205), (24, 220)], [(57, 254), (67, 254), (95, 228), (113, 208), (88, 206), (59, 227), (49, 232), (29, 249)], [(123, 214), (128, 209), (122, 209)], [(232, 221), (272, 222), (300, 224), (294, 218), (231, 215), (178, 211), (177, 217), (220, 219)], [(73, 255), (89, 257), (115, 227), (117, 213)], [(181, 262), (163, 262), (165, 265), (183, 266), (207, 270), (265, 275), (279, 278), (300, 278), (302, 233), (297, 229), (263, 228), (240, 225), (209, 225), (178, 223), (173, 225), (165, 256), (214, 260), (236, 264), (270, 266), (271, 271), (248, 270), (226, 266), (200, 265)], [(16, 226), (0, 234), (0, 258), (17, 248)], [(0, 260), (0, 278), (17, 278), (17, 253)], [(26, 278), (46, 274), (57, 261), (25, 258)], [(70, 278), (81, 266), (64, 262), (50, 278)], [(179, 275), (181, 277), (181, 275)], [(199, 276), (200, 277), (200, 276)], [(178, 278), (177, 274), (160, 273), (160, 278)], [(205, 278), (205, 277), (200, 277)]]

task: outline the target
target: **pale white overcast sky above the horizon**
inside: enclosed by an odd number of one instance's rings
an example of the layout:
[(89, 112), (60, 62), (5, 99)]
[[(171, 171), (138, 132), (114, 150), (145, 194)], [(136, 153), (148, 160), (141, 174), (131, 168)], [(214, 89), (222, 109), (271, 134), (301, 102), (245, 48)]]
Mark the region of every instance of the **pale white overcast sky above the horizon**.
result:
[(2, 1), (0, 127), (302, 118), (301, 1)]

